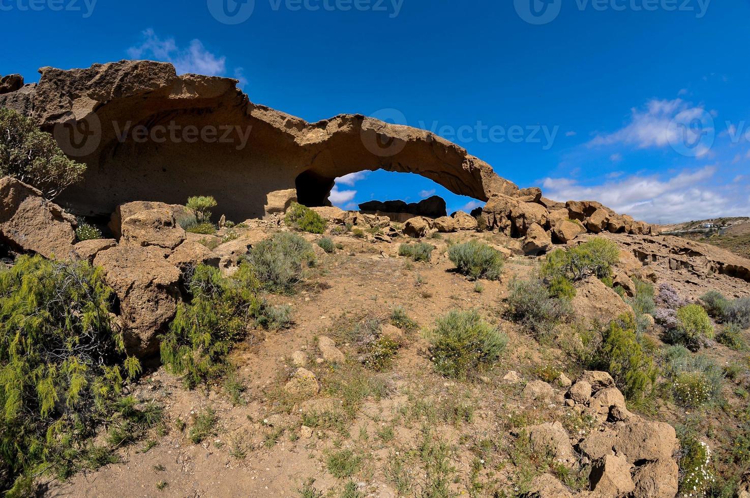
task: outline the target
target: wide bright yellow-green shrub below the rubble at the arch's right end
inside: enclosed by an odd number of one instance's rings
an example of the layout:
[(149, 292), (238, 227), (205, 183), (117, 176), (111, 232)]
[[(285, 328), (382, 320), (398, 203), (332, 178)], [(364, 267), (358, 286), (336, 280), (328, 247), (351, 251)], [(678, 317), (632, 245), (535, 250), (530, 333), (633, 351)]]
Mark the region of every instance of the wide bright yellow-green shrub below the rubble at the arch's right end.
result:
[(576, 282), (589, 275), (611, 278), (612, 266), (619, 262), (619, 248), (607, 239), (591, 239), (567, 251), (556, 249), (547, 254), (540, 269), (541, 278), (552, 281), (558, 276)]

